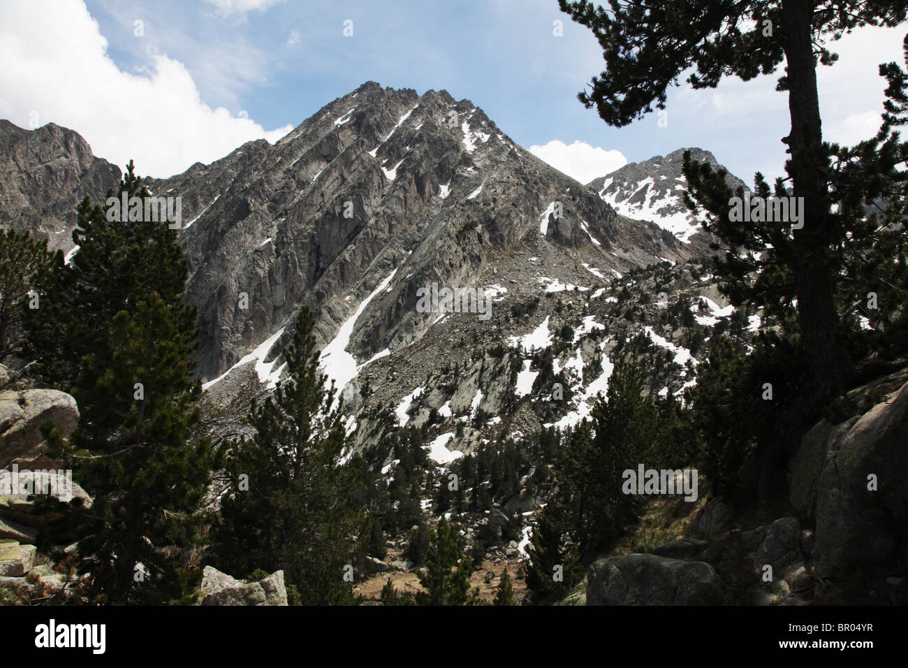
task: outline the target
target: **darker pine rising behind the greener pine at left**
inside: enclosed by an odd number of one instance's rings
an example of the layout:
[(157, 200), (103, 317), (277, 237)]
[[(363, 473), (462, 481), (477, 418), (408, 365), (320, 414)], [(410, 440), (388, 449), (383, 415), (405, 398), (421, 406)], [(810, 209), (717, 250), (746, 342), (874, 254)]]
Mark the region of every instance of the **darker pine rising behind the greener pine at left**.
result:
[(112, 343), (101, 334), (114, 316), (134, 314), (148, 295), (158, 294), (181, 327), (195, 325), (195, 309), (182, 301), (189, 264), (177, 231), (166, 221), (121, 212), (123, 195), (128, 202), (150, 196), (132, 161), (118, 191), (107, 191), (104, 206), (88, 197), (78, 205), (73, 232), (78, 251), (69, 264), (63, 264), (61, 254), (52, 266), (40, 268), (35, 291), (41, 307), (24, 312), (25, 354), (38, 360), (48, 384), (67, 392), (78, 387), (86, 355), (104, 359), (110, 354)]

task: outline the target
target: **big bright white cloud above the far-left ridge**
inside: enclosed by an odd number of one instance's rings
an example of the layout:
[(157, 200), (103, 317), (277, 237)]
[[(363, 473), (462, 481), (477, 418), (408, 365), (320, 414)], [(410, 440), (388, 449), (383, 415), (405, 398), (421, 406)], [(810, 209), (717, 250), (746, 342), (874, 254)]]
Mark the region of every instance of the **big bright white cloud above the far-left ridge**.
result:
[[(262, 5), (263, 3), (258, 3)], [(35, 12), (0, 5), (0, 114), (22, 127), (54, 122), (83, 135), (95, 155), (139, 174), (169, 176), (209, 163), (253, 139), (274, 142), (249, 118), (202, 103), (186, 67), (149, 51), (140, 74), (121, 71), (83, 2), (48, 2)], [(256, 5), (256, 3), (237, 3)], [(255, 8), (255, 7), (253, 7)]]

